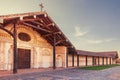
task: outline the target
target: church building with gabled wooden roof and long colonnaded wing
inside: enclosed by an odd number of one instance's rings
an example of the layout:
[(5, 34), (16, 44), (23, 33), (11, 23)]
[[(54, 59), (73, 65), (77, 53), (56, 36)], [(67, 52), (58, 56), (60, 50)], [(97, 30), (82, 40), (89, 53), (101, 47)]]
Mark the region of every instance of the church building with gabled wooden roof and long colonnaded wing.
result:
[(113, 60), (113, 55), (89, 54), (77, 51), (44, 11), (0, 16), (0, 70), (17, 73), (17, 69), (67, 68), (80, 66), (81, 62), (86, 66), (87, 60), (92, 65), (93, 56), (96, 64), (97, 57), (110, 58), (107, 64)]

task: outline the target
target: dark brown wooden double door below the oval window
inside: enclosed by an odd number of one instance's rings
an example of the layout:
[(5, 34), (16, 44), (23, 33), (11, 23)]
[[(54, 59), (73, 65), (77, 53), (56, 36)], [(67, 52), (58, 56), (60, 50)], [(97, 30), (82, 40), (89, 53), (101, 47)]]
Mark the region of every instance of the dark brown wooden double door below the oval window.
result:
[(30, 50), (18, 49), (18, 69), (30, 68)]

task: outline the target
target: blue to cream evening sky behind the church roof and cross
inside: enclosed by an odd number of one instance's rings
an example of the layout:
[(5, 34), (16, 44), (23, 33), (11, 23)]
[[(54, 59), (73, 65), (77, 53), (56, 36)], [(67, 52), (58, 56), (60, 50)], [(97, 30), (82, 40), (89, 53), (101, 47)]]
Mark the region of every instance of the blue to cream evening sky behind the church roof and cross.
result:
[(120, 52), (120, 0), (0, 0), (0, 15), (38, 12), (41, 2), (76, 49)]

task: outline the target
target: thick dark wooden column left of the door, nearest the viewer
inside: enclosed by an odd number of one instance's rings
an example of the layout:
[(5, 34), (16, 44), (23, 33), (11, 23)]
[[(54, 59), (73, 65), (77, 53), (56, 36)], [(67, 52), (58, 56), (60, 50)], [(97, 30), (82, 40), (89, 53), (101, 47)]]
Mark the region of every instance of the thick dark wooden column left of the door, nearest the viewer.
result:
[(14, 63), (13, 63), (13, 73), (17, 73), (17, 65), (18, 65), (18, 52), (17, 52), (17, 30), (16, 30), (16, 23), (14, 22), (13, 26), (13, 45), (14, 45)]

